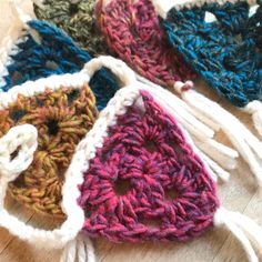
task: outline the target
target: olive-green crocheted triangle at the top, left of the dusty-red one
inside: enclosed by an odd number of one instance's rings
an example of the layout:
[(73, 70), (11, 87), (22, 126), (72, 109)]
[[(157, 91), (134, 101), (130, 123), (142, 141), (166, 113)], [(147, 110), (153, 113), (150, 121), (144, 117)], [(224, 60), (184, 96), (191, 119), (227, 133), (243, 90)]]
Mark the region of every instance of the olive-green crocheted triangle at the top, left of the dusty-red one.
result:
[(33, 7), (37, 18), (62, 29), (91, 56), (109, 53), (95, 24), (94, 0), (44, 0)]

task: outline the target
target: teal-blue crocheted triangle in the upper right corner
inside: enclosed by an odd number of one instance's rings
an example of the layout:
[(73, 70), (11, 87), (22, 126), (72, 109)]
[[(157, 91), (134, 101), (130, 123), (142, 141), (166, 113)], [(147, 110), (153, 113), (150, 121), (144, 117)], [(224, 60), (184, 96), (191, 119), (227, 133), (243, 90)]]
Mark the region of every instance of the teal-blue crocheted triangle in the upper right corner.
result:
[[(161, 26), (201, 78), (236, 107), (262, 100), (262, 1), (249, 17), (244, 1), (172, 8)], [(205, 12), (216, 21), (206, 22)]]

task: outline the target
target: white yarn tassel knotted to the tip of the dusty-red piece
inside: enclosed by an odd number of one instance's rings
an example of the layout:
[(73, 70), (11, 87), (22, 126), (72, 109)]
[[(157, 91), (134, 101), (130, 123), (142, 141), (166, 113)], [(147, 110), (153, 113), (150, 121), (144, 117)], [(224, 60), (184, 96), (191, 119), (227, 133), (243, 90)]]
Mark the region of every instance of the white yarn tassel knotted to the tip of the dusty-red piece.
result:
[(216, 122), (221, 130), (228, 135), (232, 144), (249, 164), (255, 179), (262, 184), (262, 144), (233, 114), (221, 108), (204, 95), (191, 90), (192, 82), (177, 82), (174, 89), (182, 99), (204, 118)]

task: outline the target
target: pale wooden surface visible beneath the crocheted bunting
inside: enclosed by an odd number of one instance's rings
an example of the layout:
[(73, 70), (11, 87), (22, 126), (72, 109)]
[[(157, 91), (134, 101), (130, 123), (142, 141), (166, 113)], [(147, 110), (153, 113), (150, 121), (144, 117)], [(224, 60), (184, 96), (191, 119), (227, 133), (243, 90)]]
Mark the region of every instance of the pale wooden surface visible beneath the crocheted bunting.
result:
[[(31, 12), (31, 6), (27, 3), (26, 10)], [(12, 18), (7, 0), (0, 0), (0, 41), (11, 27)], [(252, 129), (250, 117), (239, 112), (235, 108), (219, 100), (219, 98), (201, 81), (198, 84), (208, 97), (219, 101), (229, 111), (240, 117)], [(253, 130), (253, 129), (252, 129)], [(229, 144), (223, 133), (219, 140)], [(230, 210), (243, 212), (253, 218), (262, 225), (262, 193), (254, 187), (254, 180), (248, 165), (242, 159), (239, 160), (239, 169), (232, 172), (229, 183), (219, 184), (219, 196), (223, 205)], [(58, 222), (42, 218), (23, 209), (16, 201), (7, 198), (7, 206), (19, 219), (39, 228), (52, 229)], [(94, 240), (98, 261), (101, 262), (221, 262), (221, 261), (246, 261), (245, 254), (235, 239), (223, 229), (211, 229), (201, 238), (188, 243), (144, 243), (144, 244), (112, 244), (105, 240)], [(60, 251), (49, 252), (33, 246), (10, 235), (0, 229), (0, 262), (56, 262), (59, 261)], [(260, 258), (262, 259), (262, 256)]]

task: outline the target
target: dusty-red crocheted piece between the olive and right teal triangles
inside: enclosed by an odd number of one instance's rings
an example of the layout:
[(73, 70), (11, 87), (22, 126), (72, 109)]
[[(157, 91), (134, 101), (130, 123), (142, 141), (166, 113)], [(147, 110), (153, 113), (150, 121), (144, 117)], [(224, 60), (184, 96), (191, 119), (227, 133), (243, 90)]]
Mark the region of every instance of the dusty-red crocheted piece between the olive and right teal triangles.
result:
[(194, 74), (169, 47), (149, 0), (100, 0), (97, 18), (108, 46), (138, 73), (164, 87)]

